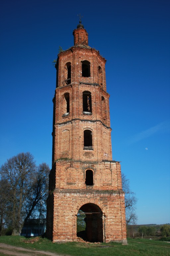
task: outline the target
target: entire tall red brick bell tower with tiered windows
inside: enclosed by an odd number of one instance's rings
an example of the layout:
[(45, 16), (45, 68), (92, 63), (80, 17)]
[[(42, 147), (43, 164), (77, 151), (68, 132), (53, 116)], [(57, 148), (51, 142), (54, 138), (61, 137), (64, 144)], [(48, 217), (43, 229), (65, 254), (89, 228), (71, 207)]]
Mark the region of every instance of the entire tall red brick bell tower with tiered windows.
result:
[[(121, 165), (112, 160), (105, 63), (81, 24), (58, 54), (47, 236), (53, 242), (126, 240)], [(82, 216), (85, 230), (77, 233)]]

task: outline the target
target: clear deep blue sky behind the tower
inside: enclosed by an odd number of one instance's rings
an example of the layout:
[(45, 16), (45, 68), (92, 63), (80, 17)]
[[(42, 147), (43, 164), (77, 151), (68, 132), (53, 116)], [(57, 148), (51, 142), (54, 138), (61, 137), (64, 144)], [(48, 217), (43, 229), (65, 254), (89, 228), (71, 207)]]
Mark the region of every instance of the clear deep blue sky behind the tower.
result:
[(0, 6), (0, 165), (30, 152), (51, 167), (59, 46), (79, 18), (106, 58), (113, 160), (138, 199), (138, 224), (170, 223), (170, 2), (5, 0)]

